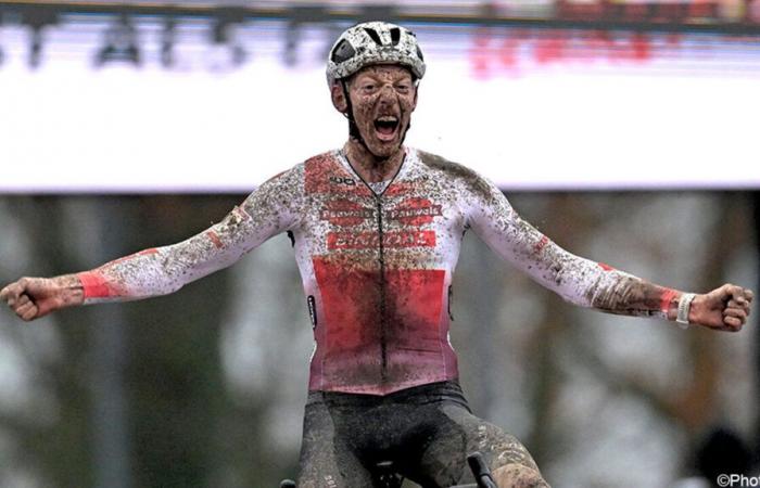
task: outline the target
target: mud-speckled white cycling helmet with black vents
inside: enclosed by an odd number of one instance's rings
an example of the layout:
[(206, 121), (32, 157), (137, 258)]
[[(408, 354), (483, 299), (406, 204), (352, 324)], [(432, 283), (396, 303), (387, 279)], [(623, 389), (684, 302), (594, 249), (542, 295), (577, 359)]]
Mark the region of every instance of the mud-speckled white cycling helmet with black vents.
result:
[(373, 64), (400, 64), (417, 79), (425, 76), (425, 57), (411, 30), (388, 22), (365, 22), (346, 29), (330, 49), (327, 84), (332, 86)]

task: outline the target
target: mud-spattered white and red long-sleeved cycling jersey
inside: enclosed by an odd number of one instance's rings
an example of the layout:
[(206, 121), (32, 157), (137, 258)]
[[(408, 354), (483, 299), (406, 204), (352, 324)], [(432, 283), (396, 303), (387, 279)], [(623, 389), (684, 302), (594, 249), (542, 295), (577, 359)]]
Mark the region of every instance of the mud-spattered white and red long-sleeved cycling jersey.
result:
[(664, 317), (675, 293), (657, 287), (654, 307), (621, 311), (642, 280), (566, 252), (476, 172), (408, 147), (380, 183), (364, 182), (340, 151), (313, 157), (206, 231), (79, 278), (86, 303), (163, 295), (289, 232), (316, 341), (309, 389), (384, 395), (458, 376), (448, 307), (468, 229), (581, 306)]

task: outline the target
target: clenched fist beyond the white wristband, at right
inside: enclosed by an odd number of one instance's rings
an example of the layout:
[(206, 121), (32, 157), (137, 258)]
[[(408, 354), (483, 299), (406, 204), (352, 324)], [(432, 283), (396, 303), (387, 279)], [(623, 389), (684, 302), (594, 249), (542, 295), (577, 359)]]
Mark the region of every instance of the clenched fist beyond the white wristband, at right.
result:
[(738, 332), (747, 322), (753, 296), (751, 290), (724, 284), (694, 298), (688, 322), (718, 331)]

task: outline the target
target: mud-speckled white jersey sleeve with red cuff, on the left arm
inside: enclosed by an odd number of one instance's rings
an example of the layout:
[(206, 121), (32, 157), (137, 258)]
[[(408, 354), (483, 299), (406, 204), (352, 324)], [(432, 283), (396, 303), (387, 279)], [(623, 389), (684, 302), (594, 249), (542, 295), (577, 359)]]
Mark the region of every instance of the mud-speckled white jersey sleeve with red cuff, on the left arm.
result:
[(85, 303), (166, 295), (235, 264), (267, 239), (297, 224), (303, 167), (256, 189), (220, 222), (177, 244), (150, 248), (78, 273)]

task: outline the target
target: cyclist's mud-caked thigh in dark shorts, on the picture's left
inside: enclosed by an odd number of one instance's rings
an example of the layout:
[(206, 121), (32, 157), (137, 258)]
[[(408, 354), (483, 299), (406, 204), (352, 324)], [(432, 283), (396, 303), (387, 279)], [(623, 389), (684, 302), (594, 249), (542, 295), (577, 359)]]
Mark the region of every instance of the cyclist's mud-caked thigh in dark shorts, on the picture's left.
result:
[(372, 486), (369, 472), (337, 434), (327, 406), (311, 398), (304, 416), (300, 467), (299, 488)]

